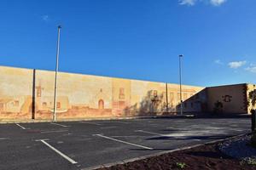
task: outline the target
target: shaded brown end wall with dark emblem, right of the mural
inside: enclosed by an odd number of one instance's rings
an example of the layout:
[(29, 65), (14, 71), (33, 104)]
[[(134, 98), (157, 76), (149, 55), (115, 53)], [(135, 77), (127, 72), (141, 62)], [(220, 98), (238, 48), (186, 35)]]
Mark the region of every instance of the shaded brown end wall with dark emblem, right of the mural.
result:
[(217, 101), (223, 104), (225, 113), (247, 113), (246, 84), (207, 88), (208, 111), (214, 110)]

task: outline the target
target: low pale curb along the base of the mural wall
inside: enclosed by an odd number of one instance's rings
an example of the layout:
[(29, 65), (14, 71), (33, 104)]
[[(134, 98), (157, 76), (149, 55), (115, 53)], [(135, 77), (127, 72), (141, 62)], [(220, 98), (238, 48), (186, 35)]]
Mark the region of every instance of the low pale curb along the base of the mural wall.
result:
[[(60, 119), (56, 122), (79, 122), (79, 121), (106, 121), (106, 120), (131, 120), (131, 119), (146, 119), (146, 118), (188, 118), (195, 117), (195, 115), (184, 116), (132, 116), (132, 117), (96, 117), (96, 118), (80, 118), (80, 119)], [(53, 122), (52, 120), (9, 120), (0, 121), (0, 124), (9, 123), (34, 123), (34, 122)]]

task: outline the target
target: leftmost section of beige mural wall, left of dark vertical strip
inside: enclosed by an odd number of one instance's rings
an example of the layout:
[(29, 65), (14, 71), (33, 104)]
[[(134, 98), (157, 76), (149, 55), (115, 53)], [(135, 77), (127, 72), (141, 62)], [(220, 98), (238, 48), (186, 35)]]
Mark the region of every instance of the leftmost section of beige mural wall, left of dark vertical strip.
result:
[(0, 67), (0, 119), (30, 119), (32, 70)]

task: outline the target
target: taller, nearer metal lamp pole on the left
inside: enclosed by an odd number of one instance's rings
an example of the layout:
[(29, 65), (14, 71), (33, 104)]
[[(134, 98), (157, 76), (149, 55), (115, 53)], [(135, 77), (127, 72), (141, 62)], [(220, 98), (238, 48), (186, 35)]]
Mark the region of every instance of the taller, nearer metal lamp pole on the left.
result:
[(54, 100), (54, 115), (53, 121), (56, 121), (56, 106), (57, 106), (57, 76), (59, 71), (59, 55), (60, 55), (60, 37), (61, 37), (61, 26), (58, 26), (58, 40), (57, 40), (57, 52), (56, 52), (56, 66), (55, 66), (55, 100)]

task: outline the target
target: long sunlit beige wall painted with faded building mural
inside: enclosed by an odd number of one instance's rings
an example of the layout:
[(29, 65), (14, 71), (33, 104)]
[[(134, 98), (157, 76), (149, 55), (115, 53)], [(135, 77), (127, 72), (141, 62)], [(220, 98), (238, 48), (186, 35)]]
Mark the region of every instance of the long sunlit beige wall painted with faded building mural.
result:
[[(0, 120), (52, 118), (54, 71), (0, 66), (0, 78)], [(203, 89), (183, 85), (184, 111), (202, 111)], [(176, 114), (179, 96), (177, 84), (59, 72), (57, 118)]]

